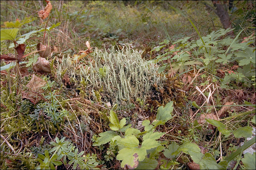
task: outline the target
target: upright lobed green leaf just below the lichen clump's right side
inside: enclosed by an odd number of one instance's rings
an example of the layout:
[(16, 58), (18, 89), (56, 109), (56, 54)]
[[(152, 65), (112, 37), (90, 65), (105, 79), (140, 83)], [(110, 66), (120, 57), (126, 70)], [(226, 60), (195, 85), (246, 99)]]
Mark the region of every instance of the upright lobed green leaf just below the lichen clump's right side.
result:
[(170, 120), (172, 118), (171, 113), (173, 111), (172, 104), (173, 101), (167, 103), (165, 107), (160, 106), (157, 109), (156, 120), (162, 120), (163, 122), (167, 122), (168, 120)]

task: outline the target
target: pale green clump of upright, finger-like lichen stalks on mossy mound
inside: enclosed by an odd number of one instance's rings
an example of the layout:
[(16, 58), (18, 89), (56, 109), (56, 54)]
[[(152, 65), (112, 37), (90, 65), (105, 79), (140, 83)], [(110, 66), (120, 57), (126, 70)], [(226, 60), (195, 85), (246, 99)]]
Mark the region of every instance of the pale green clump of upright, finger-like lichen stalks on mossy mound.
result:
[[(115, 50), (95, 49), (87, 65), (80, 68), (80, 76), (88, 82), (92, 92), (103, 89), (102, 97), (117, 104), (128, 104), (130, 99), (145, 99), (153, 84), (162, 84), (165, 77), (158, 76), (157, 65), (141, 58), (141, 53), (124, 47)], [(66, 61), (68, 62), (68, 61)], [(62, 66), (67, 63), (62, 62)], [(61, 68), (65, 70), (65, 67)], [(69, 76), (74, 71), (68, 69)], [(71, 74), (70, 74), (71, 73)]]

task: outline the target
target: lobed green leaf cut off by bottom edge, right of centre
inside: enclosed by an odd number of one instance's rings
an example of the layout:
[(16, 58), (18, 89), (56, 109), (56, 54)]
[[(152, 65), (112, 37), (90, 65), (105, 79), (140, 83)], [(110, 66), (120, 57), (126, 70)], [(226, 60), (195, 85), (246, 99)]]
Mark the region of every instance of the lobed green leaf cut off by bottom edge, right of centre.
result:
[(228, 162), (223, 160), (219, 164), (210, 153), (205, 153), (203, 155), (202, 161), (199, 162), (200, 169), (227, 169)]

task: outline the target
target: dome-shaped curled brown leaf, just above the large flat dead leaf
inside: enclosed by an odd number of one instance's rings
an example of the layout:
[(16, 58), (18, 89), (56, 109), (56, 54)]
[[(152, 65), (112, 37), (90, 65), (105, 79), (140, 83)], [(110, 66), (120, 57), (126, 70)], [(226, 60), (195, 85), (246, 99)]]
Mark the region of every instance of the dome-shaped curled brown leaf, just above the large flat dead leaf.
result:
[(33, 70), (38, 73), (51, 73), (50, 63), (42, 57), (38, 57), (38, 61), (33, 65)]

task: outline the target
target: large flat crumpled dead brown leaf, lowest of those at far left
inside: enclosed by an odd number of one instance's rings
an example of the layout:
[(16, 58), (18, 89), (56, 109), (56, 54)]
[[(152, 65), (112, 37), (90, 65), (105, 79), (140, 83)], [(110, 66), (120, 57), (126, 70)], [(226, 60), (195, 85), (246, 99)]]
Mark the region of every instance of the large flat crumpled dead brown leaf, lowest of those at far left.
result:
[(45, 86), (45, 84), (46, 82), (43, 79), (33, 74), (31, 80), (26, 85), (28, 89), (22, 90), (22, 98), (28, 99), (34, 104), (38, 103), (43, 99), (40, 94), (43, 93), (41, 87)]

